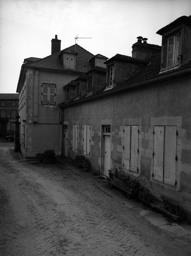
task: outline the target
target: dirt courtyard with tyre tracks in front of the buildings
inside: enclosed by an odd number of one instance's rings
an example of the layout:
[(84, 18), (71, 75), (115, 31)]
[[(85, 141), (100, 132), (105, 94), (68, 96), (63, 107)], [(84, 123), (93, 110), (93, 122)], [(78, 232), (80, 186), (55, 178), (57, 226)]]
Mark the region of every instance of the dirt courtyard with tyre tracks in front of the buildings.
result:
[(0, 148), (0, 256), (190, 255), (190, 236), (143, 220), (71, 169)]

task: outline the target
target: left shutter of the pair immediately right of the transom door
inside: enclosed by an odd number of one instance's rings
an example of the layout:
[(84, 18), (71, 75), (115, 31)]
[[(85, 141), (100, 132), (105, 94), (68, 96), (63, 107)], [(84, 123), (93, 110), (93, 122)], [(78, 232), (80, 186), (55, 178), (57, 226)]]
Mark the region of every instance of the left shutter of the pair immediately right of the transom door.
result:
[(130, 125), (124, 125), (123, 166), (124, 166), (124, 169), (129, 170), (129, 167), (130, 167)]

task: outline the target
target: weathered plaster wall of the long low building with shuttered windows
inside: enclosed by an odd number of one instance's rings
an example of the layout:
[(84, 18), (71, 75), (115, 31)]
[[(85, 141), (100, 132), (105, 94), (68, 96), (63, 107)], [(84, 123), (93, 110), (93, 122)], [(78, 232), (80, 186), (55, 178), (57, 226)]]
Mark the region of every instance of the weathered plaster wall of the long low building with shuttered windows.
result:
[[(107, 96), (102, 99), (64, 108), (64, 122), (68, 123), (68, 156), (75, 159), (83, 154), (83, 125), (91, 125), (91, 169), (103, 173), (101, 125), (111, 125), (111, 167), (122, 168), (123, 127), (139, 125), (140, 183), (159, 197), (161, 194), (179, 201), (191, 212), (191, 77), (153, 84), (137, 90)], [(72, 125), (79, 127), (78, 152), (72, 151)], [(177, 126), (176, 186), (153, 180), (154, 125)]]

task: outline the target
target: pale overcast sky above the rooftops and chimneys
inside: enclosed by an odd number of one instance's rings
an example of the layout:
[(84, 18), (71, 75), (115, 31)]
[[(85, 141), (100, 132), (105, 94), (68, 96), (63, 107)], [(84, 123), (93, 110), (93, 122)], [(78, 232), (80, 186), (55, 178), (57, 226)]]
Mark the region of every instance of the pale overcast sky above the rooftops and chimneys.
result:
[(94, 55), (131, 56), (137, 36), (161, 45), (156, 32), (191, 15), (191, 0), (0, 0), (0, 93), (16, 93), (24, 58), (51, 54), (78, 44)]

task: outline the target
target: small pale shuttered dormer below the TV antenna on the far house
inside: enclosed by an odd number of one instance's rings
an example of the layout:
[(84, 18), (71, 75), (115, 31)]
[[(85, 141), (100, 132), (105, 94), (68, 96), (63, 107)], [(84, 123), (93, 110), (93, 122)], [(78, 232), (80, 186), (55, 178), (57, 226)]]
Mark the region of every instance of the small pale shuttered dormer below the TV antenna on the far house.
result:
[(60, 54), (60, 58), (62, 61), (62, 64), (65, 69), (71, 69), (75, 70), (75, 63), (76, 63), (76, 55), (78, 53), (72, 51), (72, 50), (67, 50), (67, 51), (62, 51)]

